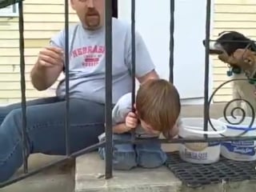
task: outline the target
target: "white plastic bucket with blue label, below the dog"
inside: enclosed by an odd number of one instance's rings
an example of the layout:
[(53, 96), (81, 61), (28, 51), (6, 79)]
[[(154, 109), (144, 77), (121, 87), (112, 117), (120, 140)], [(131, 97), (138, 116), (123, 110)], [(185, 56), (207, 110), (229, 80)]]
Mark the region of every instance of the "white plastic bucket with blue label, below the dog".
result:
[[(242, 119), (241, 116), (236, 116), (238, 120), (234, 120), (233, 117), (226, 117), (230, 122), (239, 121)], [(242, 137), (245, 136), (256, 136), (256, 121), (251, 127), (250, 122), (252, 118), (246, 117), (243, 122), (239, 125), (231, 125), (226, 122), (225, 118), (218, 119), (221, 122), (226, 124), (227, 130), (223, 134), (229, 137), (238, 136), (238, 134), (242, 134), (245, 130), (248, 130), (246, 134), (243, 134)], [(234, 161), (254, 161), (256, 160), (256, 141), (234, 141), (234, 142), (222, 142), (221, 145), (221, 154), (224, 158), (228, 158)]]

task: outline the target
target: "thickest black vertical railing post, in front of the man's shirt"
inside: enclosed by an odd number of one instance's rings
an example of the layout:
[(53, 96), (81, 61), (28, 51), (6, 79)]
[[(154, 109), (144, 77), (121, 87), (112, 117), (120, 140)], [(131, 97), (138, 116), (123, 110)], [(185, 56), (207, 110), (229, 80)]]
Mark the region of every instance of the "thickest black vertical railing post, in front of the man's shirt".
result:
[(105, 178), (112, 178), (112, 0), (105, 1), (105, 45), (106, 45), (106, 84), (105, 84), (105, 121), (106, 121), (106, 167)]

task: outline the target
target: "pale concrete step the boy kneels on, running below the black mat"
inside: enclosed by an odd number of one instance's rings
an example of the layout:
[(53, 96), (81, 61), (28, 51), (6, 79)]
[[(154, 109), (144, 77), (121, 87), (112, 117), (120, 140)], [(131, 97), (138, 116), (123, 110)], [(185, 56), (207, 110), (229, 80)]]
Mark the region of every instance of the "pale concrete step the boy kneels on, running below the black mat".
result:
[(105, 179), (105, 161), (98, 153), (85, 154), (76, 160), (74, 192), (253, 192), (256, 181), (222, 182), (198, 188), (184, 186), (167, 170), (136, 168), (114, 171), (113, 178)]

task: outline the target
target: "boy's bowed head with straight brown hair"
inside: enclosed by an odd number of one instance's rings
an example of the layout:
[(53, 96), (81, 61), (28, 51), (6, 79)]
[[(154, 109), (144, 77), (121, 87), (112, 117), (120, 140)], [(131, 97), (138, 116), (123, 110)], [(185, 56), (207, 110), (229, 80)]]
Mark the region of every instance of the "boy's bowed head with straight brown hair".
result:
[(178, 90), (164, 79), (150, 79), (139, 87), (135, 108), (147, 132), (170, 138), (181, 110)]

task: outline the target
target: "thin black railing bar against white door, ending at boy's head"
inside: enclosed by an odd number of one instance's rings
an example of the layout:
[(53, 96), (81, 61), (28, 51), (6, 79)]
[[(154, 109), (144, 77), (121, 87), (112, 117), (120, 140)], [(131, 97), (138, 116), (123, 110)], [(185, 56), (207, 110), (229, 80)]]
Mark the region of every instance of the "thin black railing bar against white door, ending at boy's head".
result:
[(174, 82), (174, 0), (170, 0), (170, 58), (169, 58), (169, 81)]

